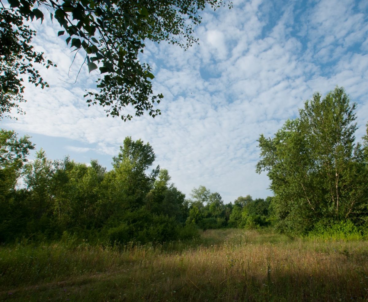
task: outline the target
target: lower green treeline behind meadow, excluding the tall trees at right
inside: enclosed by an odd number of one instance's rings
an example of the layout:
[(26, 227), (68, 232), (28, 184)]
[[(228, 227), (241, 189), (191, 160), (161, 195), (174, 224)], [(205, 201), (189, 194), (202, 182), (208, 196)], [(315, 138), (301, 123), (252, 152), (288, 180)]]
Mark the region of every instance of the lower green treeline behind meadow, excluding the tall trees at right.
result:
[[(75, 234), (90, 242), (163, 242), (198, 236), (198, 228), (267, 226), (270, 199), (239, 197), (224, 204), (203, 186), (191, 198), (152, 169), (149, 143), (124, 140), (113, 169), (66, 157), (50, 160), (42, 149), (33, 161), (28, 136), (1, 130), (0, 241), (57, 240)], [(22, 185), (17, 186), (21, 181)]]

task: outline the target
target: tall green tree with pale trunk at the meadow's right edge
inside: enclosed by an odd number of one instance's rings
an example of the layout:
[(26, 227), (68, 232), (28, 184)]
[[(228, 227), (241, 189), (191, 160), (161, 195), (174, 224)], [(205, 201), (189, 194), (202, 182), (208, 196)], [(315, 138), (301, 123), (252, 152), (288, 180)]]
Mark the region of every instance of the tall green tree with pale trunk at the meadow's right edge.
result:
[(259, 137), (256, 170), (268, 172), (283, 230), (303, 232), (321, 219), (365, 219), (367, 169), (354, 143), (355, 107), (342, 87), (324, 98), (315, 93), (273, 139)]

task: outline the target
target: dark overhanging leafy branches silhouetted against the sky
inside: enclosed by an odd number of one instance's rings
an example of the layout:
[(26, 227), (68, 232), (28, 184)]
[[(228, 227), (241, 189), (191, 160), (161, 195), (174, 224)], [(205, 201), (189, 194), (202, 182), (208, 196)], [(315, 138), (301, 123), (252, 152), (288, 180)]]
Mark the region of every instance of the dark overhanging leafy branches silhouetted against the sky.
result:
[[(18, 75), (28, 73), (29, 81), (42, 88), (47, 83), (39, 76), (33, 63), (46, 67), (42, 53), (32, 49), (35, 34), (24, 25), (25, 20), (44, 18), (50, 11), (51, 19), (59, 22), (62, 30), (58, 36), (66, 37), (72, 51), (81, 51), (89, 72), (97, 69), (99, 92), (87, 91), (87, 103), (100, 104), (107, 115), (121, 116), (126, 121), (132, 115), (122, 113), (130, 105), (135, 115), (144, 111), (155, 117), (160, 114), (154, 103), (163, 98), (153, 95), (151, 66), (139, 61), (145, 40), (160, 43), (167, 41), (187, 49), (197, 39), (193, 25), (201, 23), (198, 12), (206, 5), (213, 9), (226, 5), (223, 0), (8, 0), (10, 7), (0, 9), (1, 28), (1, 111), (9, 112), (22, 100), (23, 79)], [(3, 4), (3, 3), (1, 3)], [(231, 2), (228, 4), (231, 8)], [(117, 18), (118, 16), (118, 18)]]

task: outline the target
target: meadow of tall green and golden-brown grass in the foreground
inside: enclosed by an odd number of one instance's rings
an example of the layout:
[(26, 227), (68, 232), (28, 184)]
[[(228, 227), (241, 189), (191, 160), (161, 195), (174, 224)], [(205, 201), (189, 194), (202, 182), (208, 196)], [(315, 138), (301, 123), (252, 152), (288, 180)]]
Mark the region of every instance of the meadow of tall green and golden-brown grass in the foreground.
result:
[(227, 229), (156, 247), (1, 247), (0, 300), (368, 301), (368, 242)]

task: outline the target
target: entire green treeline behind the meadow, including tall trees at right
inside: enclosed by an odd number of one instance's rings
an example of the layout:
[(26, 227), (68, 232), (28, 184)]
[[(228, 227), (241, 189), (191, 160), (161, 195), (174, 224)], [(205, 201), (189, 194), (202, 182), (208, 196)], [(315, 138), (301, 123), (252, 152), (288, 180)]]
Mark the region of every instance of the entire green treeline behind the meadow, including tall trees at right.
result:
[(314, 94), (272, 138), (262, 134), (256, 170), (268, 173), (274, 196), (230, 204), (204, 186), (186, 199), (167, 170), (152, 168), (155, 154), (141, 140), (125, 138), (106, 171), (97, 161), (51, 161), (43, 150), (28, 162), (29, 137), (1, 130), (0, 241), (76, 234), (109, 244), (164, 242), (198, 229), (268, 226), (291, 236), (368, 236), (368, 125), (356, 143), (355, 107), (336, 87)]

